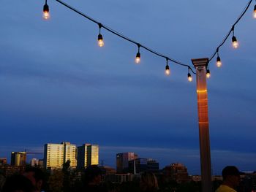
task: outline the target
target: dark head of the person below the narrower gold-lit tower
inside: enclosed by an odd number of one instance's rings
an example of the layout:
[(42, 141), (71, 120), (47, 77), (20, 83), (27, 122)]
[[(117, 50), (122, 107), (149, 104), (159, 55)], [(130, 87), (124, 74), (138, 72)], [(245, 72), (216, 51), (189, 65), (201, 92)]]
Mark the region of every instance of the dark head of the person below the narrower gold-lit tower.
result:
[(84, 172), (86, 185), (97, 185), (102, 180), (102, 171), (97, 165), (88, 166)]

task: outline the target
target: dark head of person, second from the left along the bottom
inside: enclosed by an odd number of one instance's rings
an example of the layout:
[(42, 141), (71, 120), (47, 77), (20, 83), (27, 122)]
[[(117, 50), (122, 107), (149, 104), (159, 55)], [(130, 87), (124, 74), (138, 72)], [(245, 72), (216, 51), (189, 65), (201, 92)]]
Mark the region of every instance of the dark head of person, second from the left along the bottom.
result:
[(26, 168), (23, 175), (31, 180), (31, 183), (34, 185), (37, 191), (41, 190), (42, 184), (45, 180), (45, 174), (42, 172), (41, 169), (31, 166)]

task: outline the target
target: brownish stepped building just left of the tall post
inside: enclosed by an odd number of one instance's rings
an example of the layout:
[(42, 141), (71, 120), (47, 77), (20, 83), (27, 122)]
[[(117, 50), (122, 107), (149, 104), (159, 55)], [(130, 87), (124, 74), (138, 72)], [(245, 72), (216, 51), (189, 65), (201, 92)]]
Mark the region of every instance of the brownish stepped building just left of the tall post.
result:
[(177, 183), (187, 183), (190, 180), (187, 167), (183, 164), (177, 163), (165, 166), (163, 173), (169, 180), (175, 180)]

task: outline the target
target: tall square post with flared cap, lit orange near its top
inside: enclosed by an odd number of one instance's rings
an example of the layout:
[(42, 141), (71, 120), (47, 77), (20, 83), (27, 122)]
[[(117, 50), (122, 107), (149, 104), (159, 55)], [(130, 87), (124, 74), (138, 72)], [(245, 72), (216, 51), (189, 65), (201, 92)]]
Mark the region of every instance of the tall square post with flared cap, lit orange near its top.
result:
[(208, 122), (208, 96), (206, 86), (206, 65), (208, 58), (192, 59), (197, 76), (197, 110), (200, 140), (200, 162), (202, 192), (210, 192), (211, 188), (211, 150)]

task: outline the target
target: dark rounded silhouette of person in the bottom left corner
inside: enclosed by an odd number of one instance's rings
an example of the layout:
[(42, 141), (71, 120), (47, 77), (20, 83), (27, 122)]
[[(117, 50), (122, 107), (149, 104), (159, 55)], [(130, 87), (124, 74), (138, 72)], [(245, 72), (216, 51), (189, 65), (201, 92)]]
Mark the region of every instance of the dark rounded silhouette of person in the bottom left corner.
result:
[(2, 188), (3, 192), (34, 192), (31, 181), (23, 175), (14, 174), (8, 177)]

